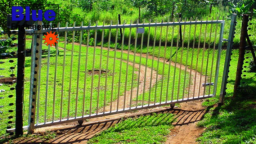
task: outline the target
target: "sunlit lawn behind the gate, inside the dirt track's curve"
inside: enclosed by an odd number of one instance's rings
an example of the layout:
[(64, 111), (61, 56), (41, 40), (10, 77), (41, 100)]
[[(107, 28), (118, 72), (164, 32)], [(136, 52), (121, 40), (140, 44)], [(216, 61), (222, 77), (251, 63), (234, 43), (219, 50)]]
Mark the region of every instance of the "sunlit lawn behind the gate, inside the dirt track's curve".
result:
[[(26, 48), (30, 48), (30, 40), (27, 40)], [(60, 47), (63, 46), (63, 43), (59, 43)], [(63, 75), (63, 50), (60, 50), (60, 54), (58, 55), (58, 60), (57, 60), (57, 73), (56, 73), (56, 82), (54, 82), (55, 78), (55, 54), (56, 50), (55, 48), (50, 48), (50, 57), (49, 57), (49, 82), (48, 82), (48, 89), (47, 89), (47, 104), (45, 102), (46, 98), (46, 79), (47, 79), (47, 60), (48, 60), (48, 47), (43, 45), (42, 47), (43, 51), (45, 53), (42, 55), (42, 68), (41, 68), (41, 77), (40, 77), (40, 99), (37, 99), (37, 102), (39, 101), (40, 109), (39, 109), (39, 123), (44, 122), (44, 116), (46, 115), (46, 121), (50, 121), (52, 116), (53, 116), (53, 111), (54, 111), (54, 120), (58, 120), (60, 118), (60, 106), (61, 106), (61, 91), (62, 91), (62, 85), (63, 85), (63, 103), (62, 103), (62, 118), (67, 117), (67, 109), (68, 109), (68, 97), (69, 97), (69, 82), (71, 83), (71, 91), (70, 91), (70, 117), (75, 117), (75, 110), (76, 110), (76, 93), (78, 95), (78, 104), (77, 104), (77, 115), (81, 116), (82, 114), (82, 107), (83, 107), (83, 98), (84, 98), (84, 76), (85, 76), (85, 58), (86, 58), (86, 47), (82, 47), (81, 49), (81, 64), (80, 64), (80, 73), (79, 77), (77, 80), (77, 74), (78, 74), (78, 57), (79, 57), (79, 46), (75, 45), (74, 46), (74, 53), (73, 53), (73, 69), (72, 69), (72, 78), (70, 79), (69, 74), (70, 74), (70, 67), (71, 67), (71, 50), (72, 45), (68, 44), (67, 45), (67, 51), (66, 51), (66, 60), (65, 60), (65, 68), (64, 68), (64, 81), (62, 83), (62, 75)], [(89, 48), (88, 50), (88, 63), (87, 63), (87, 70), (92, 69), (92, 64), (93, 64), (93, 48)], [(102, 68), (106, 69), (107, 65), (107, 51), (103, 50), (103, 57), (102, 57)], [(114, 60), (114, 53), (115, 51), (110, 51), (109, 52), (109, 62), (108, 62), (108, 70), (109, 74), (107, 76), (107, 93), (106, 93), (106, 104), (110, 102), (111, 99), (111, 84), (112, 84), (112, 76), (113, 76), (113, 60)], [(122, 55), (123, 60), (127, 60), (128, 55), (123, 54)], [(125, 85), (125, 80), (126, 80), (126, 63), (122, 62), (122, 67), (120, 67), (120, 59), (121, 58), (121, 53), (116, 52), (116, 58), (117, 60), (115, 61), (115, 72), (114, 72), (114, 83), (113, 83), (113, 100), (117, 99), (117, 94), (118, 94), (118, 89), (120, 89), (120, 95), (123, 95), (123, 92), (125, 90), (124, 85)], [(17, 60), (16, 58), (13, 58), (14, 60)], [(133, 61), (134, 56), (129, 55), (129, 61)], [(95, 68), (99, 69), (99, 60), (100, 60), (100, 49), (95, 49)], [(4, 65), (4, 68), (8, 68), (10, 66), (13, 66), (13, 63), (7, 63), (8, 59), (3, 59), (3, 61), (6, 62), (6, 65)], [(142, 58), (141, 63), (142, 65), (145, 65), (147, 59)], [(135, 63), (140, 63), (140, 58), (135, 57)], [(27, 125), (27, 117), (28, 117), (28, 102), (29, 102), (29, 85), (30, 85), (30, 66), (31, 66), (31, 58), (26, 57), (25, 61), (25, 81), (24, 81), (24, 125)], [(164, 74), (164, 77), (168, 76), (168, 67), (169, 65), (165, 64), (165, 69), (163, 69), (163, 63), (162, 62), (157, 62), (155, 59), (153, 61), (152, 65), (152, 60), (148, 60), (148, 67), (153, 67), (153, 69), (158, 68), (158, 74)], [(120, 70), (121, 68), (121, 70)], [(119, 81), (119, 72), (121, 71), (121, 79), (120, 79), (120, 88), (118, 87), (118, 81)], [(132, 71), (133, 67), (128, 65), (128, 72), (127, 73), (127, 90), (131, 89), (131, 83), (132, 83)], [(135, 71), (138, 71), (138, 69), (135, 69)], [(171, 66), (170, 73), (174, 73), (174, 67)], [(178, 75), (179, 75), (179, 69), (176, 69), (176, 78), (175, 81), (177, 82), (178, 80)], [(185, 76), (184, 71), (180, 71), (181, 73), (181, 81), (183, 81), (183, 77)], [(9, 75), (8, 71), (5, 70), (4, 75)], [(188, 73), (186, 74), (188, 77)], [(89, 109), (90, 109), (90, 92), (91, 92), (91, 75), (86, 76), (86, 87), (85, 87), (85, 114), (89, 114)], [(97, 95), (99, 94), (99, 108), (103, 107), (103, 100), (104, 100), (104, 86), (105, 86), (105, 75), (101, 75), (101, 81), (100, 81), (100, 89), (98, 93), (98, 75), (94, 75), (94, 81), (93, 81), (93, 93), (92, 93), (92, 113), (95, 113), (96, 111), (96, 106), (97, 106)], [(70, 81), (71, 80), (71, 81)], [(170, 81), (172, 81), (173, 78), (170, 77)], [(77, 90), (77, 81), (79, 81), (78, 84), (78, 90)], [(160, 100), (160, 91), (161, 91), (161, 83), (162, 81), (158, 79), (157, 82), (157, 87), (154, 86), (152, 89), (151, 93), (151, 102), (154, 100), (154, 96), (156, 96), (157, 102)], [(137, 75), (134, 74), (134, 81), (133, 81), (133, 87), (137, 86)], [(163, 81), (163, 86), (167, 84), (167, 81)], [(188, 82), (185, 84), (185, 87), (187, 87)], [(54, 99), (54, 86), (55, 86), (55, 109), (53, 109), (53, 99)], [(6, 119), (8, 116), (14, 116), (15, 112), (13, 113), (8, 113), (7, 111), (9, 109), (15, 109), (14, 106), (6, 106), (9, 103), (15, 103), (15, 96), (13, 98), (7, 98), (8, 95), (13, 94), (15, 95), (15, 91), (8, 91), (10, 87), (13, 87), (13, 85), (3, 85), (1, 86), (1, 89), (5, 89), (6, 91), (4, 93), (0, 94), (0, 97), (4, 96), (6, 99), (5, 101), (1, 101), (0, 105), (5, 105), (4, 108), (1, 109), (3, 111), (3, 114), (1, 114), (1, 118), (5, 118), (4, 120), (1, 121), (3, 123), (1, 125), (1, 129), (4, 129), (4, 127), (8, 126), (7, 122), (9, 121)], [(172, 86), (168, 88), (169, 94), (171, 93)], [(77, 91), (77, 92), (76, 92)], [(165, 101), (165, 95), (167, 88), (163, 88), (163, 98), (162, 102)], [(176, 99), (176, 93), (178, 91), (178, 87), (175, 85), (174, 87), (174, 99)], [(183, 93), (183, 89), (179, 89), (180, 95)], [(138, 100), (142, 100), (142, 96), (138, 96)], [(145, 95), (145, 100), (148, 101), (148, 92), (146, 92)], [(167, 98), (167, 100), (171, 100), (171, 96)], [(46, 105), (46, 114), (45, 114), (45, 105)], [(14, 121), (14, 118), (11, 119)], [(12, 126), (14, 127), (14, 126)], [(2, 131), (3, 132), (3, 131)]]

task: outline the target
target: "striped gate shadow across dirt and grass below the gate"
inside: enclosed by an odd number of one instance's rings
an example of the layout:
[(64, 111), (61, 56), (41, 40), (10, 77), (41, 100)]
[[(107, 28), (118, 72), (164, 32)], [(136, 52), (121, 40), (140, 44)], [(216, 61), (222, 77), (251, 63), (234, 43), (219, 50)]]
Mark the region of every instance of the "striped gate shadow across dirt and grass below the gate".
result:
[[(169, 125), (169, 126), (178, 126), (178, 125), (188, 125), (189, 123), (197, 122), (203, 119), (203, 116), (208, 113), (211, 107), (206, 109), (201, 109), (198, 111), (186, 111), (183, 109), (166, 109), (165, 111), (159, 111), (156, 113), (147, 113), (147, 114), (135, 114), (130, 118), (134, 118), (133, 121), (125, 121), (126, 118), (117, 118), (114, 120), (105, 120), (97, 123), (85, 123), (84, 125), (77, 125), (72, 127), (60, 128), (55, 130), (57, 136), (54, 139), (49, 139), (49, 134), (45, 135), (44, 133), (39, 133), (35, 135), (25, 135), (13, 140), (13, 143), (18, 144), (51, 144), (51, 143), (60, 143), (60, 144), (69, 144), (69, 143), (85, 143), (85, 141), (93, 138), (99, 132), (104, 131), (107, 133), (117, 132), (120, 133), (123, 130), (132, 130), (134, 128), (143, 129), (144, 127), (152, 127), (158, 125)], [(168, 115), (166, 113), (170, 113)], [(174, 118), (174, 115), (176, 117)], [(144, 116), (144, 117), (140, 117)], [(139, 121), (137, 121), (139, 119)], [(175, 121), (175, 122), (174, 122)], [(120, 123), (122, 122), (122, 123)], [(120, 123), (116, 125), (117, 123)], [(115, 126), (114, 129), (109, 129), (110, 127)], [(109, 130), (107, 130), (109, 129)], [(10, 139), (6, 139), (9, 141)]]

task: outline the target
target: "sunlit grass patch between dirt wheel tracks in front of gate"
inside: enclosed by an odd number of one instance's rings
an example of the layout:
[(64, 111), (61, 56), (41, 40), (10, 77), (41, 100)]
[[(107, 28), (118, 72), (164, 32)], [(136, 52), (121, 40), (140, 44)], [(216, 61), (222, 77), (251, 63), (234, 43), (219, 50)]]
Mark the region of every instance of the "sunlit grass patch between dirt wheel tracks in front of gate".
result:
[(138, 118), (127, 118), (104, 130), (88, 141), (89, 144), (161, 144), (173, 129), (174, 114), (161, 113)]

